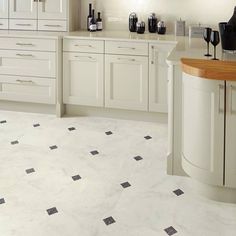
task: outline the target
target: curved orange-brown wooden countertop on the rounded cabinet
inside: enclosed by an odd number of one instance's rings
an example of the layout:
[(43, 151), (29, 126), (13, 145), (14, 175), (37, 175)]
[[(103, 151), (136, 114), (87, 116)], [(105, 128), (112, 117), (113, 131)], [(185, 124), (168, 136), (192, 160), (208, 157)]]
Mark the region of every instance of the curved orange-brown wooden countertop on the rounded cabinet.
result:
[(236, 61), (181, 58), (186, 74), (204, 79), (236, 81)]

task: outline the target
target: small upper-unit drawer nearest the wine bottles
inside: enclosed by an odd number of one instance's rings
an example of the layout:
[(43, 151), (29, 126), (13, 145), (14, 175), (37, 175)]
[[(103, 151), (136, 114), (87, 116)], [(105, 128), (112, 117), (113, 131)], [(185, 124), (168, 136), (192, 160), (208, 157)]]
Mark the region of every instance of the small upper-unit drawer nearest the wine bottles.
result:
[(65, 20), (38, 20), (38, 30), (67, 31), (67, 21)]

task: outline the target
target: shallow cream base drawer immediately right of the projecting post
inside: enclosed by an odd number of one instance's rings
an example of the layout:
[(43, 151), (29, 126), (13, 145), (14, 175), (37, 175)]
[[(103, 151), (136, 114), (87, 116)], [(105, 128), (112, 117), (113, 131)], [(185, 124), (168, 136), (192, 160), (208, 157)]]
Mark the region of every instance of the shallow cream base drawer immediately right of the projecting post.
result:
[(66, 52), (104, 53), (104, 41), (85, 39), (65, 39), (63, 50)]

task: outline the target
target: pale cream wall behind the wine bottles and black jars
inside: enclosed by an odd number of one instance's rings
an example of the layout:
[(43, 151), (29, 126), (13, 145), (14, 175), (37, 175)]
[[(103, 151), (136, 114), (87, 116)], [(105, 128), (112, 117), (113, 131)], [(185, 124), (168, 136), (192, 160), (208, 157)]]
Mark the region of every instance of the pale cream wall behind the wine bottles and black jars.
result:
[(102, 12), (106, 30), (127, 30), (130, 12), (144, 21), (155, 12), (166, 22), (167, 33), (174, 32), (174, 22), (180, 17), (187, 26), (201, 23), (217, 27), (218, 22), (228, 21), (236, 5), (235, 0), (81, 0), (82, 29), (86, 29), (89, 3)]

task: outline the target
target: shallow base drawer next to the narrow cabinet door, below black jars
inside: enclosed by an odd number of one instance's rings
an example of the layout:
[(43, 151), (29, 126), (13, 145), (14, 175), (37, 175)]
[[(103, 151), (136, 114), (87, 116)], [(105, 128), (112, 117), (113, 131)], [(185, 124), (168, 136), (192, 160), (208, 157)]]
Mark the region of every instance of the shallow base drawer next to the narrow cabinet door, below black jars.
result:
[(148, 55), (148, 43), (106, 41), (105, 52), (121, 55)]

